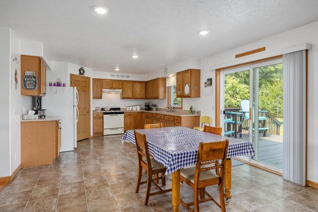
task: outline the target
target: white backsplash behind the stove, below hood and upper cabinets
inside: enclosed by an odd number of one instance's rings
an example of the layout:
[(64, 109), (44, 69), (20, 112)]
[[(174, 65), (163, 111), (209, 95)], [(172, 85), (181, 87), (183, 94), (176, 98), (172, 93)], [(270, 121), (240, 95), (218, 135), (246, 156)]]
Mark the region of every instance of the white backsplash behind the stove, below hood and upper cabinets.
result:
[(145, 102), (156, 103), (159, 108), (164, 108), (167, 104), (166, 99), (120, 99), (118, 93), (103, 93), (102, 99), (93, 99), (96, 107), (127, 107), (132, 105), (141, 105), (145, 107)]

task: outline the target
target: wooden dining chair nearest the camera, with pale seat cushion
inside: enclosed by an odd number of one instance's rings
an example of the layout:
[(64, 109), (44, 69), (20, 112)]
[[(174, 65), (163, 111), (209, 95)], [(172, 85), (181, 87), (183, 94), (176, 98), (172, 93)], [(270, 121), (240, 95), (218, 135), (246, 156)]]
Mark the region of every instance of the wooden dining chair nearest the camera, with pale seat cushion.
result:
[[(222, 212), (225, 212), (224, 201), (224, 175), (226, 160), (228, 154), (229, 140), (218, 142), (200, 142), (197, 164), (196, 167), (185, 168), (180, 170), (180, 180), (188, 184), (194, 190), (194, 202), (185, 203), (181, 200), (181, 203), (191, 212), (194, 212), (190, 206), (194, 205), (195, 212), (199, 212), (199, 203), (212, 200), (217, 206), (221, 208)], [(203, 166), (207, 161), (222, 160), (221, 164)], [(220, 169), (219, 175), (217, 175), (213, 169)], [(205, 187), (212, 185), (219, 185), (220, 203), (218, 203), (207, 191)], [(199, 195), (201, 199), (199, 200)], [(205, 198), (205, 195), (208, 198)]]

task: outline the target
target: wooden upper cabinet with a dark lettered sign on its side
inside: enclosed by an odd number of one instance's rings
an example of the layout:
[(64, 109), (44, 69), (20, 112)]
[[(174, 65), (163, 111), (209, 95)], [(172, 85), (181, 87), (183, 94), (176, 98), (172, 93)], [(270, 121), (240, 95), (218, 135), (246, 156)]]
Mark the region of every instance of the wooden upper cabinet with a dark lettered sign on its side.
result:
[(40, 57), (21, 55), (21, 95), (45, 96), (46, 65)]

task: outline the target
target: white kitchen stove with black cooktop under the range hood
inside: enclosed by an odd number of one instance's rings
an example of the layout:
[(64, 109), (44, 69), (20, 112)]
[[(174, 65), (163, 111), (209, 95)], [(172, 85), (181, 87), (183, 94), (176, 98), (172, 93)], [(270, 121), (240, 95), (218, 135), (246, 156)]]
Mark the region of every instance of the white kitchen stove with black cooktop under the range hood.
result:
[(124, 111), (110, 108), (104, 111), (104, 136), (117, 134), (124, 134)]

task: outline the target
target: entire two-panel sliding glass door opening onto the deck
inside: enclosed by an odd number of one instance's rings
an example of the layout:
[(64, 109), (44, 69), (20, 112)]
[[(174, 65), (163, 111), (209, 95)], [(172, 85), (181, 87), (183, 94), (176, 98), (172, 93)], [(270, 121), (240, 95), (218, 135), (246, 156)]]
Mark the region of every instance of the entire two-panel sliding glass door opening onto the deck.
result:
[(222, 71), (220, 125), (224, 136), (253, 143), (256, 155), (242, 159), (275, 171), (282, 169), (282, 61)]

